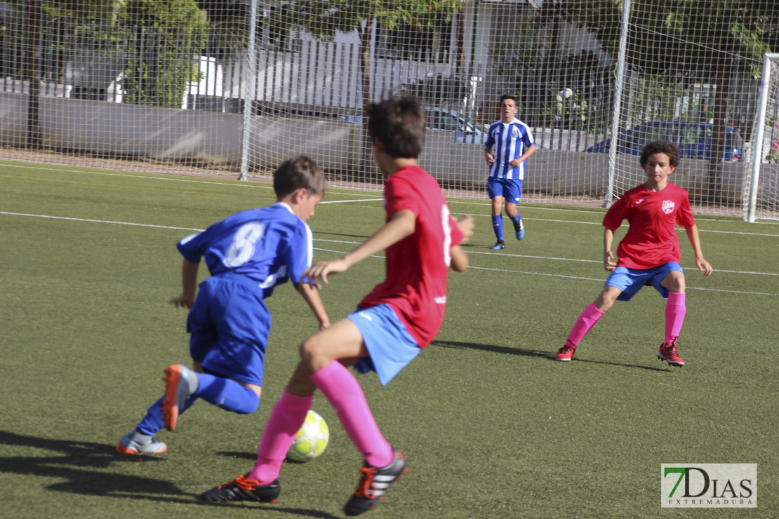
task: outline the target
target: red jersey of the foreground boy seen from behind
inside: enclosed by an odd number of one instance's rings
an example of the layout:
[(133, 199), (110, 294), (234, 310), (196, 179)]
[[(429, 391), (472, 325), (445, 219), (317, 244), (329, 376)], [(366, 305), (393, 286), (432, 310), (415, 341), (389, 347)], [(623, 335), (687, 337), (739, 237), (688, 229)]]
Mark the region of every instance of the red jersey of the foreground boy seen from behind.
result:
[(403, 209), (414, 212), (414, 234), (386, 250), (386, 279), (360, 306), (387, 303), (407, 331), (425, 348), (435, 338), (446, 308), (446, 278), (451, 248), (463, 233), (449, 216), (449, 205), (435, 178), (421, 167), (404, 167), (384, 184), (386, 222)]

